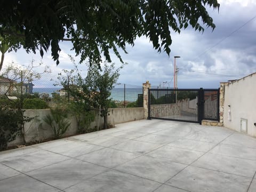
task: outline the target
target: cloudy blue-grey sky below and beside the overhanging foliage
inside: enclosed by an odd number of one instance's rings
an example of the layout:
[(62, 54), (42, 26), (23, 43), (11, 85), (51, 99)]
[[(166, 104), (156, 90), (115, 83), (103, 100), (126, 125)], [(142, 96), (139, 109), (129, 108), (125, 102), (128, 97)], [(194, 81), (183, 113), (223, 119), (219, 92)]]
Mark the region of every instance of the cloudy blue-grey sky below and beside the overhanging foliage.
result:
[[(185, 88), (218, 88), (220, 82), (242, 78), (256, 72), (256, 0), (219, 0), (220, 10), (209, 9), (209, 14), (216, 25), (214, 31), (205, 29), (199, 33), (187, 28), (180, 34), (172, 33), (170, 57), (166, 53), (157, 53), (146, 38), (138, 38), (134, 47), (127, 47), (129, 54), (122, 53), (126, 65), (121, 70), (119, 83), (141, 86), (149, 81), (154, 86), (173, 87), (174, 55), (179, 55), (178, 87)], [(41, 85), (49, 84), (46, 79), (54, 78), (62, 69), (71, 69), (68, 54), (71, 45), (61, 43), (60, 64), (55, 66), (51, 54), (44, 55), (44, 65), (52, 69)], [(32, 59), (41, 60), (39, 54), (27, 54), (23, 50), (5, 54), (4, 67), (10, 63), (27, 65)], [(116, 65), (119, 60), (112, 55)], [(79, 58), (76, 59), (77, 63)], [(83, 71), (85, 65), (80, 65)], [(167, 82), (167, 83), (163, 83)], [(51, 84), (51, 83), (50, 83)]]

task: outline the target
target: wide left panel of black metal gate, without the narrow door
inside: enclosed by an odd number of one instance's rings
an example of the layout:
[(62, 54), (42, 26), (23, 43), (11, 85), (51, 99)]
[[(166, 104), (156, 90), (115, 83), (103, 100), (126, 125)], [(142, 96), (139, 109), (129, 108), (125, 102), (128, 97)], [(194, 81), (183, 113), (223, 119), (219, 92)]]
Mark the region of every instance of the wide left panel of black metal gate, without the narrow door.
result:
[(149, 89), (149, 118), (198, 121), (198, 89)]

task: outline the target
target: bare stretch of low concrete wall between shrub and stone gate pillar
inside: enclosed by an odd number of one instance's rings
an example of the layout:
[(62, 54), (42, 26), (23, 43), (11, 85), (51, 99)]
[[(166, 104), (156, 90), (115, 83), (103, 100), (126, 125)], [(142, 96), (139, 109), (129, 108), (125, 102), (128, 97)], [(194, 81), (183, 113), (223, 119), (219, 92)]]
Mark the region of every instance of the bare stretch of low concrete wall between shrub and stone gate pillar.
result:
[(108, 124), (115, 126), (115, 124), (118, 123), (136, 121), (143, 118), (143, 107), (110, 108), (108, 113)]

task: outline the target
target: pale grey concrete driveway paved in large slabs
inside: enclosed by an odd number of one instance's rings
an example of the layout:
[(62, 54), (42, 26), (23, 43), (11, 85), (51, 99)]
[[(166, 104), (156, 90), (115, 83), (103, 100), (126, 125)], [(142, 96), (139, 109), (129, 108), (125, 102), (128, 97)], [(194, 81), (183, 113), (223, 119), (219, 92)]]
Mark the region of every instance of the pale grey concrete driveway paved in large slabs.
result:
[(0, 153), (0, 191), (256, 191), (256, 138), (161, 120)]

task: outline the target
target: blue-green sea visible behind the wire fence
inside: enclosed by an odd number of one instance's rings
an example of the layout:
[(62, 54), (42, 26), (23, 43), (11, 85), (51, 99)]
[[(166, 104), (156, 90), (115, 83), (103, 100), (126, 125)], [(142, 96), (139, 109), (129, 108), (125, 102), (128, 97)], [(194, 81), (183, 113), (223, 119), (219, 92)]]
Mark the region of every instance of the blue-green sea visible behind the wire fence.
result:
[[(52, 93), (59, 93), (61, 87), (33, 87), (33, 93), (48, 93), (52, 97)], [(114, 88), (111, 90), (110, 98), (115, 101), (136, 101), (138, 99), (138, 94), (142, 94), (143, 90), (141, 88)]]

